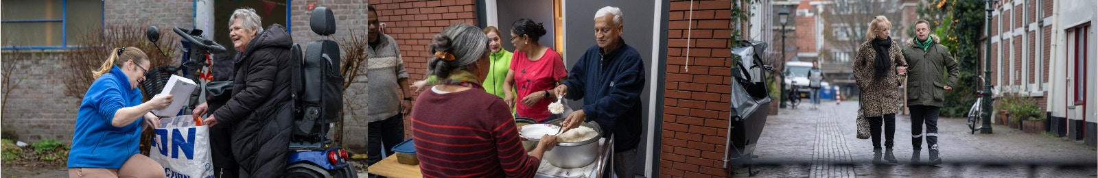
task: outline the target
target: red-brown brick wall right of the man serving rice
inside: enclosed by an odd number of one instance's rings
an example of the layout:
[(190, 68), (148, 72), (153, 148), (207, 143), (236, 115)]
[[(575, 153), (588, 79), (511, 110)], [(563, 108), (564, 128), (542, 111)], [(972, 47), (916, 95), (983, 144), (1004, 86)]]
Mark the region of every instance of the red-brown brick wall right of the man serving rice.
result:
[[(691, 3), (694, 3), (693, 22), (685, 15), (676, 15), (688, 11)], [(730, 15), (699, 19), (697, 14), (699, 11), (729, 14), (730, 5), (727, 0), (670, 4), (659, 177), (729, 176), (720, 167), (729, 118)], [(688, 23), (694, 29), (693, 37), (687, 41)], [(708, 32), (713, 34), (705, 34)], [(687, 45), (691, 47), (688, 71), (684, 69)]]

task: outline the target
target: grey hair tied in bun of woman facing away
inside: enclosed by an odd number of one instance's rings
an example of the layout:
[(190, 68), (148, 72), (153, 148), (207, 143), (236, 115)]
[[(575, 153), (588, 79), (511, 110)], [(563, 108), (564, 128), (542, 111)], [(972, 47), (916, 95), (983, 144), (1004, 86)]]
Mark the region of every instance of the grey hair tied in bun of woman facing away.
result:
[[(435, 34), (430, 42), (427, 75), (445, 79), (455, 70), (468, 71), (473, 63), (488, 55), (488, 35), (480, 27), (468, 23), (450, 25), (442, 33)], [(452, 54), (455, 59), (444, 60), (435, 56), (436, 52)]]

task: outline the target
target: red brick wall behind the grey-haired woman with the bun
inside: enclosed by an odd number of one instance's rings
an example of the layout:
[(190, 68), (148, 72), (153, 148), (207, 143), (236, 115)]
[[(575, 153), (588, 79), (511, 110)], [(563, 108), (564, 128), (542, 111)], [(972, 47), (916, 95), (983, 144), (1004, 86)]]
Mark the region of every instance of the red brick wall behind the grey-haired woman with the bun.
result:
[[(401, 47), (408, 82), (426, 78), (427, 44), (435, 34), (456, 23), (477, 25), (473, 0), (370, 0), (378, 9), (378, 21), (386, 23), (384, 33), (393, 36)], [(415, 98), (417, 94), (411, 97)], [(411, 121), (404, 118), (405, 137), (412, 137)]]

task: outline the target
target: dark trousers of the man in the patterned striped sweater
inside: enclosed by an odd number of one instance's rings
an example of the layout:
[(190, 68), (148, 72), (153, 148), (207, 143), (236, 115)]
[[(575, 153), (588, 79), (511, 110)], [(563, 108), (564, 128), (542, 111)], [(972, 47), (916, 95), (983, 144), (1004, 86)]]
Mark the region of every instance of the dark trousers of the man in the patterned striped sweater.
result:
[[(367, 165), (373, 165), (381, 162), (382, 155), (392, 155), (393, 146), (404, 142), (404, 114), (396, 113), (396, 115), (390, 116), (389, 119), (370, 122), (368, 129), (368, 136), (366, 140), (367, 145)], [(382, 148), (384, 153), (382, 154)]]

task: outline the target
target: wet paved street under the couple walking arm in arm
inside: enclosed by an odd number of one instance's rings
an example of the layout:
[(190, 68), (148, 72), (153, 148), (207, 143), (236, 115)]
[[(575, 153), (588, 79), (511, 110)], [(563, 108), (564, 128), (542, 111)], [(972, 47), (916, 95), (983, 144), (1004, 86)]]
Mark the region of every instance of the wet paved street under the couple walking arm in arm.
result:
[[(996, 125), (994, 134), (970, 134), (964, 119), (951, 118), (938, 121), (942, 164), (914, 165), (909, 163), (912, 147), (908, 115), (896, 116), (894, 153), (899, 164), (873, 165), (871, 141), (855, 137), (856, 101), (822, 101), (817, 110), (807, 105), (782, 109), (778, 115), (768, 119), (754, 151), (754, 170), (760, 171), (757, 177), (1098, 176), (1098, 153), (1094, 147), (1002, 125)], [(922, 149), (923, 163), (927, 151)]]

